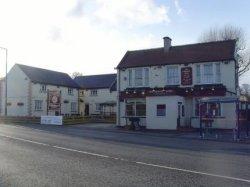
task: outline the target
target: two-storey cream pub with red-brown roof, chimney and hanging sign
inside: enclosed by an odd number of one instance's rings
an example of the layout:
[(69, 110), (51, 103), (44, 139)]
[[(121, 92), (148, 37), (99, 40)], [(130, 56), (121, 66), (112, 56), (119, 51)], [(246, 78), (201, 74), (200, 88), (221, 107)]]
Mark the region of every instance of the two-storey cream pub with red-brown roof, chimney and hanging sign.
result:
[(213, 117), (213, 127), (235, 127), (235, 104), (202, 98), (237, 97), (235, 40), (127, 51), (117, 66), (117, 125), (178, 129), (200, 125), (200, 114)]

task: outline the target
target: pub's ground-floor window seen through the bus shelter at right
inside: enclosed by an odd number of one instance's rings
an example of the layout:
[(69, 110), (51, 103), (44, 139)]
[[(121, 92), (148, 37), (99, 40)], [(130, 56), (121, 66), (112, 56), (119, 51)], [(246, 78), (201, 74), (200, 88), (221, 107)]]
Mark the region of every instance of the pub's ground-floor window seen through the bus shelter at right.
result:
[(202, 116), (204, 115), (221, 116), (221, 104), (220, 103), (203, 103), (201, 105), (201, 108), (199, 108), (199, 103), (196, 100), (195, 115), (200, 116), (200, 112)]

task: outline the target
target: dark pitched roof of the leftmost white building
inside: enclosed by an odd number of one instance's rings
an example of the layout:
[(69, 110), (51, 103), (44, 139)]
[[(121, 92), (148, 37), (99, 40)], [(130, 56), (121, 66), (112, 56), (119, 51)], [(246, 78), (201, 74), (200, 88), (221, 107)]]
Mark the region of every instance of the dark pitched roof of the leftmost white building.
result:
[(78, 84), (66, 73), (51, 71), (42, 68), (16, 64), (30, 78), (32, 82), (79, 88)]

